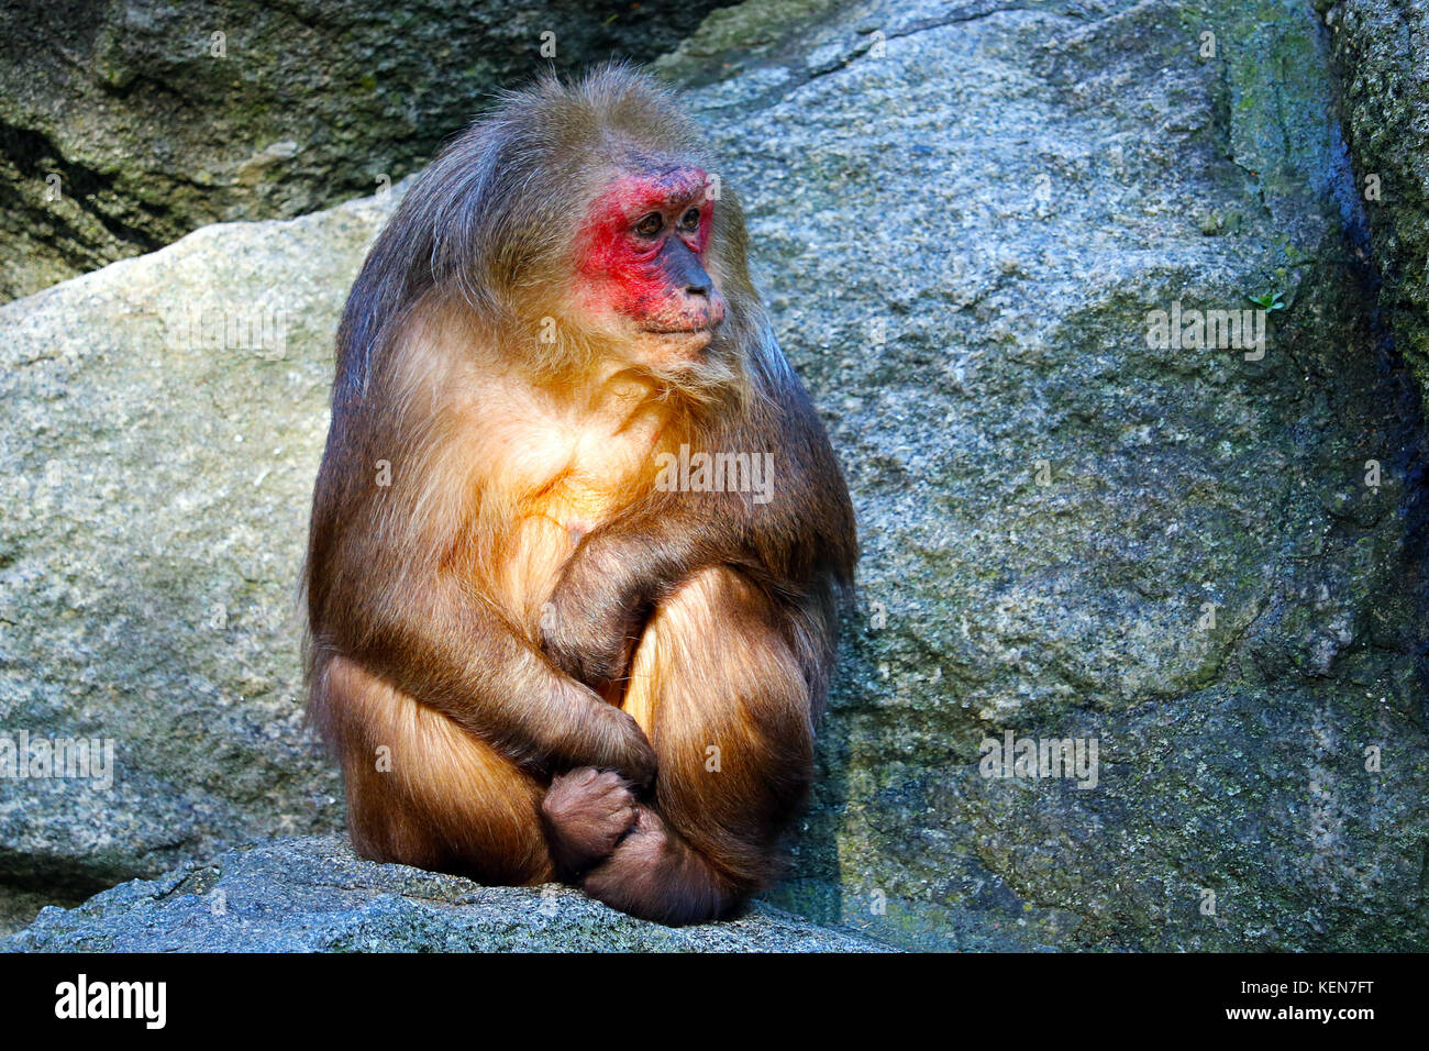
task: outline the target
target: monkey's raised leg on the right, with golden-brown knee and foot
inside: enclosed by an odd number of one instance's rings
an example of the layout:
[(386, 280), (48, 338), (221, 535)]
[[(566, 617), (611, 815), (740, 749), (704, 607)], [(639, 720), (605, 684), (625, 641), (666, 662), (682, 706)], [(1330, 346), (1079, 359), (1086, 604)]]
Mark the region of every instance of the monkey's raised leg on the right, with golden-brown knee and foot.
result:
[(593, 898), (699, 922), (775, 875), (813, 765), (809, 685), (775, 618), (727, 568), (702, 571), (656, 611), (624, 704), (659, 758), (654, 804), (586, 877)]

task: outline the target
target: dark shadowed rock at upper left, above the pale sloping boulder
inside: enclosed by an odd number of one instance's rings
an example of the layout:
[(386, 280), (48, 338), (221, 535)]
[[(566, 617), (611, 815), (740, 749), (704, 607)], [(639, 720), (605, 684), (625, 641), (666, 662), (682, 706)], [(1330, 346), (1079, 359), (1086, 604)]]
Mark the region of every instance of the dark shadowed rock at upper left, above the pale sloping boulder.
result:
[(652, 59), (710, 6), (0, 3), (0, 302), (204, 223), (369, 194), (494, 90)]

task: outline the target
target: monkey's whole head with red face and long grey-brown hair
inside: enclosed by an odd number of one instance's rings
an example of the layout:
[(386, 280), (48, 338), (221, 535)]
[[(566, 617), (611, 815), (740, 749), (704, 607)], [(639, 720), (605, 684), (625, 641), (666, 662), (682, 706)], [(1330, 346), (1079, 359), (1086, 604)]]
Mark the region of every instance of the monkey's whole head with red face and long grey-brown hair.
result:
[(407, 192), (349, 300), (344, 346), (419, 302), (529, 367), (634, 367), (692, 393), (763, 325), (739, 202), (674, 96), (624, 66), (506, 94)]

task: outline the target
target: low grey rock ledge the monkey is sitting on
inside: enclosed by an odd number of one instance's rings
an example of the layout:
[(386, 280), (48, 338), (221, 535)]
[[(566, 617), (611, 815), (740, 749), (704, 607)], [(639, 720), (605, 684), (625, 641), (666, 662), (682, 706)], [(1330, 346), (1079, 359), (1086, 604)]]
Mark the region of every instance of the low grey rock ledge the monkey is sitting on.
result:
[(339, 837), (229, 851), (50, 908), (0, 952), (886, 952), (769, 905), (699, 927), (633, 919), (567, 887), (482, 887), (376, 865)]

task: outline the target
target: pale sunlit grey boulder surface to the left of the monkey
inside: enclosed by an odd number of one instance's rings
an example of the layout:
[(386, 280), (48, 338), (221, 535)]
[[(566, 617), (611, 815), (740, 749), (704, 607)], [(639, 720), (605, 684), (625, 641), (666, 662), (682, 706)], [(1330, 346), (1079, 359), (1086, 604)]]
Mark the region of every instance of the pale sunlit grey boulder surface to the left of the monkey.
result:
[(0, 778), (0, 882), (74, 901), (340, 827), (297, 569), (333, 330), (400, 189), (0, 306), (0, 731), (114, 755), (110, 785)]

